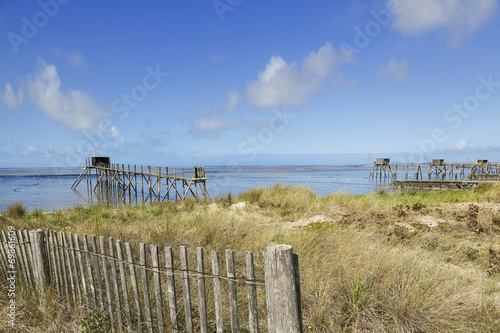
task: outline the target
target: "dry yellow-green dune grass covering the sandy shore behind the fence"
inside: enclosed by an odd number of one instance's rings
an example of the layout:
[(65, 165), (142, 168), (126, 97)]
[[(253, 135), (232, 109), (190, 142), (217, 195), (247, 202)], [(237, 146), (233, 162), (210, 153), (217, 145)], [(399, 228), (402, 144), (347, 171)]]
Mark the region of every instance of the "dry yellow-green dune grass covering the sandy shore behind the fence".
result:
[[(235, 209), (239, 202), (245, 207)], [(299, 254), (306, 332), (498, 332), (499, 203), (500, 187), (491, 184), (472, 191), (324, 197), (277, 184), (214, 203), (4, 212), (0, 227), (233, 249), (239, 256), (286, 243)], [(292, 227), (315, 216), (325, 221)], [(439, 223), (431, 227), (422, 221)], [(57, 306), (41, 309), (29, 300), (20, 311), (25, 326), (39, 332), (54, 327), (69, 332), (91, 318), (105, 320), (102, 314), (82, 318)]]

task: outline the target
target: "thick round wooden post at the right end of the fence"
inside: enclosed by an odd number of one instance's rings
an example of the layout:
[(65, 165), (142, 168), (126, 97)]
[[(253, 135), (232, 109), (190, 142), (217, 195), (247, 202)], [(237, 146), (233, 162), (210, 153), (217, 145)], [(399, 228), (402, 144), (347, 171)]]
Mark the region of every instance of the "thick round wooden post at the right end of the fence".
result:
[(301, 333), (299, 269), (292, 247), (268, 247), (264, 254), (264, 273), (269, 332)]

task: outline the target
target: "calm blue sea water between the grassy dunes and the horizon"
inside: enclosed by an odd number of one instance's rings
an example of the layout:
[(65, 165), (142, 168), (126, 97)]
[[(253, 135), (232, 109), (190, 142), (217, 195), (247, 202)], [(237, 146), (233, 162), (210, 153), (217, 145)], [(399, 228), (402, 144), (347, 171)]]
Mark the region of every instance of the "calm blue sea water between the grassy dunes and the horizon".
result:
[[(258, 186), (272, 186), (278, 182), (291, 183), (313, 189), (319, 195), (330, 192), (368, 193), (388, 183), (374, 183), (369, 179), (370, 168), (359, 166), (262, 166), (206, 167), (207, 190), (210, 196), (233, 195)], [(0, 211), (14, 202), (22, 202), (29, 210), (53, 211), (97, 203), (89, 195), (82, 181), (77, 190), (71, 185), (77, 179), (79, 168), (0, 168)], [(95, 184), (95, 180), (93, 180)], [(140, 201), (140, 199), (139, 199)]]

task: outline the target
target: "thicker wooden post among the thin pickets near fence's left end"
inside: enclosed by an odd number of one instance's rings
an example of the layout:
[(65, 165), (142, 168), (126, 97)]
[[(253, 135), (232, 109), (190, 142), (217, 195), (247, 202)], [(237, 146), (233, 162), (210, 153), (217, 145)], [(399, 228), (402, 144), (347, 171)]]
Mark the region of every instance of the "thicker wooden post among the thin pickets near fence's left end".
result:
[(42, 229), (31, 231), (31, 247), (33, 253), (33, 275), (37, 290), (42, 294), (50, 284), (49, 257), (45, 247)]

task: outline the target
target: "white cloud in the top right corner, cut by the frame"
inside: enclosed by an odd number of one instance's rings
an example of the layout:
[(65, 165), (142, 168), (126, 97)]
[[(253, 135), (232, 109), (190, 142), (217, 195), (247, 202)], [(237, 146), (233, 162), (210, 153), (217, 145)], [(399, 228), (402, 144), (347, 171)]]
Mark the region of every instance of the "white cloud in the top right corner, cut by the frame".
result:
[[(498, 0), (399, 0), (401, 13), (392, 27), (407, 36), (439, 29), (448, 46), (458, 47), (464, 39), (488, 23)], [(388, 0), (389, 3), (393, 0)]]

